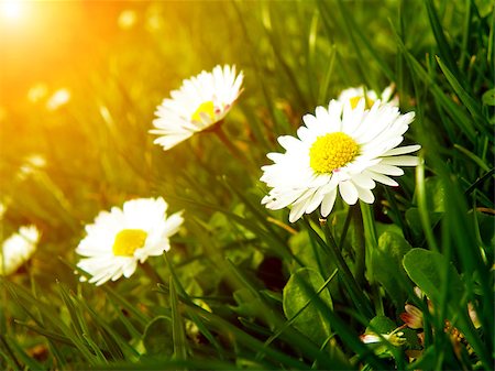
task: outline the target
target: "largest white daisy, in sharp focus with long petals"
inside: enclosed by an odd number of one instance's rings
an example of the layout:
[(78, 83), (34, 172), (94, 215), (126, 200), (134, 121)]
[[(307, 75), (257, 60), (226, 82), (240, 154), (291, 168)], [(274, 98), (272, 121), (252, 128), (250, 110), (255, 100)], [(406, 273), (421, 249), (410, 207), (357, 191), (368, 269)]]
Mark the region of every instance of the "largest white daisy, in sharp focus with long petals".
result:
[(418, 157), (406, 155), (420, 145), (397, 148), (415, 113), (400, 114), (397, 107), (375, 101), (365, 109), (331, 100), (328, 109), (302, 117), (305, 126), (297, 137), (284, 135), (278, 143), (285, 153), (268, 153), (274, 162), (263, 166), (262, 182), (272, 187), (262, 199), (268, 209), (292, 206), (289, 221), (321, 206), (322, 217), (333, 208), (337, 194), (354, 205), (358, 199), (372, 204), (375, 182), (398, 186), (389, 175), (403, 175), (397, 166), (416, 166)]

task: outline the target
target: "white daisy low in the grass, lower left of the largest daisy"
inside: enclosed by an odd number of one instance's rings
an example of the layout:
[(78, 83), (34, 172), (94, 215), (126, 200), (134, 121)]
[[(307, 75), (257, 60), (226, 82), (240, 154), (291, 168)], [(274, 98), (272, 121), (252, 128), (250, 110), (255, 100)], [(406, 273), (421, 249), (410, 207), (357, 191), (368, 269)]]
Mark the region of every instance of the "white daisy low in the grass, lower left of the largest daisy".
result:
[(89, 283), (101, 285), (122, 275), (130, 277), (138, 262), (168, 251), (168, 238), (178, 231), (184, 219), (182, 211), (167, 217), (167, 207), (162, 197), (133, 199), (124, 203), (122, 209), (101, 211), (92, 225), (86, 226), (87, 236), (76, 252), (86, 257), (77, 266), (91, 275)]

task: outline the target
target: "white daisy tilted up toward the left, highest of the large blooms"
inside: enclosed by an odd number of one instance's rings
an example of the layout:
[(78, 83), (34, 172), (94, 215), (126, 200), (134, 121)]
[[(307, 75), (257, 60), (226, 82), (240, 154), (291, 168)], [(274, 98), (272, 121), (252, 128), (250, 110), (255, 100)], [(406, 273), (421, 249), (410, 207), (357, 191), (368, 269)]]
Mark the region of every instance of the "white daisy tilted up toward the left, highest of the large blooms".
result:
[(166, 151), (221, 121), (242, 92), (242, 72), (235, 75), (235, 66), (229, 65), (185, 79), (155, 111), (150, 133), (161, 137), (154, 143)]

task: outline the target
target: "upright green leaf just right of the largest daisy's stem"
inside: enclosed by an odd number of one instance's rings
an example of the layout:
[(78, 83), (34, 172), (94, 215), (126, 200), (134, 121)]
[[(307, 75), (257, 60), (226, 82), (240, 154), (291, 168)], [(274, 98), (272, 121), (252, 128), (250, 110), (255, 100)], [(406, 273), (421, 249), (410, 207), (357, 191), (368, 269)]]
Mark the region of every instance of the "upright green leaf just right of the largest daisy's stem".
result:
[(383, 285), (397, 308), (400, 308), (407, 298), (402, 284), (408, 280), (402, 262), (410, 249), (403, 236), (384, 232), (380, 236), (377, 248), (372, 252), (374, 277)]

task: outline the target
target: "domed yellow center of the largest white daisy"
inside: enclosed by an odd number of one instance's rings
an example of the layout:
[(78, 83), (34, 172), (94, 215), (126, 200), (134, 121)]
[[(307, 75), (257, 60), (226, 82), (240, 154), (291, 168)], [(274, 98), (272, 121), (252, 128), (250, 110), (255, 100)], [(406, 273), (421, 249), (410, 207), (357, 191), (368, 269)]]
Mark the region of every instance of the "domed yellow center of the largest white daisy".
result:
[(309, 165), (317, 173), (331, 173), (351, 162), (358, 150), (358, 143), (342, 132), (318, 137), (309, 149)]

